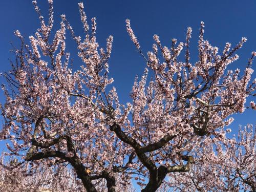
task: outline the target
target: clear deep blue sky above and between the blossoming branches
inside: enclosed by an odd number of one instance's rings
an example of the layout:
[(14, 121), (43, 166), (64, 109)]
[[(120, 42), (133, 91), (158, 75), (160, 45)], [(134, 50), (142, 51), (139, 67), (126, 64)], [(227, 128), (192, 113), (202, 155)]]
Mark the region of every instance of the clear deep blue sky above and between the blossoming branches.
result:
[[(60, 15), (66, 14), (76, 34), (83, 35), (78, 2), (77, 0), (54, 1), (54, 29), (59, 28)], [(198, 28), (201, 21), (205, 23), (205, 38), (220, 50), (224, 48), (225, 42), (231, 42), (234, 46), (241, 37), (248, 38), (245, 46), (238, 52), (240, 59), (232, 63), (230, 69), (240, 68), (243, 71), (251, 52), (256, 51), (256, 1), (254, 0), (87, 0), (83, 2), (88, 18), (97, 18), (97, 38), (100, 46), (105, 47), (105, 39), (108, 35), (114, 36), (110, 75), (115, 79), (114, 86), (122, 103), (130, 100), (129, 93), (134, 77), (136, 74), (141, 75), (145, 67), (143, 58), (136, 52), (126, 33), (126, 18), (131, 20), (132, 28), (144, 53), (151, 50), (154, 34), (158, 34), (162, 44), (169, 47), (172, 38), (184, 42), (186, 28), (190, 26), (193, 29), (190, 57), (191, 61), (196, 61)], [(38, 5), (43, 15), (47, 17), (47, 1), (38, 0)], [(8, 58), (13, 58), (9, 52), (11, 49), (9, 41), (19, 45), (13, 31), (18, 29), (26, 37), (33, 35), (39, 27), (39, 20), (30, 0), (9, 0), (0, 1), (0, 23), (0, 71), (3, 72), (10, 69)], [(67, 38), (70, 39), (69, 34)], [(76, 46), (73, 41), (68, 40), (67, 47), (71, 57), (75, 58), (74, 68), (77, 69), (81, 63), (76, 60)], [(183, 59), (183, 54), (181, 58)], [(256, 62), (253, 63), (254, 70), (255, 65)], [(252, 78), (256, 78), (256, 73)], [(4, 82), (4, 79), (1, 78), (0, 82)], [(0, 92), (0, 102), (4, 102), (3, 92)], [(242, 115), (234, 115), (234, 118), (235, 121), (230, 125), (233, 133), (236, 133), (239, 124), (255, 124), (256, 119), (252, 110), (247, 110)], [(0, 148), (2, 148), (1, 142)]]

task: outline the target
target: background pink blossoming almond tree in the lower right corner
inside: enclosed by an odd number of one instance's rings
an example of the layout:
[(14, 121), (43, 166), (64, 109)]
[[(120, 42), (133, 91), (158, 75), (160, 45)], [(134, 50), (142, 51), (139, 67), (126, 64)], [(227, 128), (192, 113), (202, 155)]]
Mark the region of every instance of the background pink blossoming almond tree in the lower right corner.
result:
[(198, 149), (198, 161), (190, 172), (173, 174), (165, 185), (175, 191), (255, 191), (256, 136), (252, 125), (240, 129), (237, 139), (209, 143)]

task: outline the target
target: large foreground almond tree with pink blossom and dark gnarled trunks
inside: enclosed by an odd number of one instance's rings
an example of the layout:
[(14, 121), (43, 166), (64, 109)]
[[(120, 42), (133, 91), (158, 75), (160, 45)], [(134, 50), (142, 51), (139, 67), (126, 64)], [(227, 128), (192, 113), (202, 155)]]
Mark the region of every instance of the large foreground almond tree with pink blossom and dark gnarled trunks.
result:
[[(224, 128), (232, 122), (231, 115), (243, 113), (246, 108), (256, 109), (253, 101), (245, 106), (246, 98), (255, 96), (256, 81), (250, 82), (250, 77), (256, 53), (252, 52), (244, 73), (226, 70), (239, 58), (235, 53), (247, 40), (245, 37), (233, 48), (226, 43), (219, 53), (204, 39), (202, 22), (199, 60), (190, 63), (191, 28), (187, 29), (184, 44), (173, 39), (170, 48), (154, 35), (153, 51), (146, 56), (127, 19), (127, 32), (146, 66), (141, 80), (135, 78), (132, 103), (124, 105), (115, 88), (107, 91), (113, 82), (108, 76), (113, 37), (108, 37), (105, 49), (99, 48), (96, 19), (92, 18), (89, 29), (82, 3), (79, 12), (84, 39), (76, 36), (65, 15), (61, 15), (60, 29), (53, 34), (53, 2), (48, 2), (47, 23), (33, 1), (41, 27), (29, 36), (30, 45), (15, 31), (22, 45), (13, 51), (16, 60), (11, 62), (12, 70), (4, 74), (9, 87), (2, 87), (6, 102), (1, 105), (5, 124), (0, 139), (11, 142), (7, 144), (9, 155), (19, 156), (22, 161), (18, 164), (70, 166), (87, 191), (101, 190), (95, 183), (99, 179), (105, 181), (108, 191), (120, 190), (117, 185), (126, 190), (131, 179), (142, 191), (156, 191), (159, 187), (165, 190), (163, 182), (177, 184), (187, 178), (181, 172), (193, 174), (197, 169), (204, 174), (215, 166), (208, 163), (215, 163), (218, 155), (212, 146), (228, 145), (225, 135), (229, 130)], [(66, 52), (66, 31), (76, 42), (83, 62), (77, 71), (71, 69), (70, 54)], [(183, 48), (185, 59), (179, 61)], [(246, 142), (250, 140), (246, 137)], [(235, 158), (232, 148), (226, 153)], [(250, 153), (253, 158), (255, 153)], [(239, 184), (255, 184), (250, 179), (255, 175), (243, 175), (247, 165), (239, 166), (240, 160), (233, 163), (232, 167), (243, 169), (236, 171), (236, 177), (241, 178)], [(225, 170), (228, 173), (224, 176), (231, 179), (235, 170)]]

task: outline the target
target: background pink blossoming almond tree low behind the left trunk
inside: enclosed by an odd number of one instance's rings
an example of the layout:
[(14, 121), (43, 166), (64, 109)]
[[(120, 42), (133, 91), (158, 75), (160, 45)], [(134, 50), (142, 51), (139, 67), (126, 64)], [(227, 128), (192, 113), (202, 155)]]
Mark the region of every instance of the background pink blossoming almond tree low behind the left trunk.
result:
[[(68, 166), (48, 164), (35, 164), (27, 162), (19, 164), (16, 158), (5, 161), (2, 154), (0, 163), (0, 191), (5, 192), (79, 192), (85, 191), (80, 179), (76, 178), (74, 171)], [(121, 177), (116, 175), (116, 190), (134, 192), (130, 183), (124, 187)], [(108, 191), (104, 179), (94, 180), (98, 191)]]

